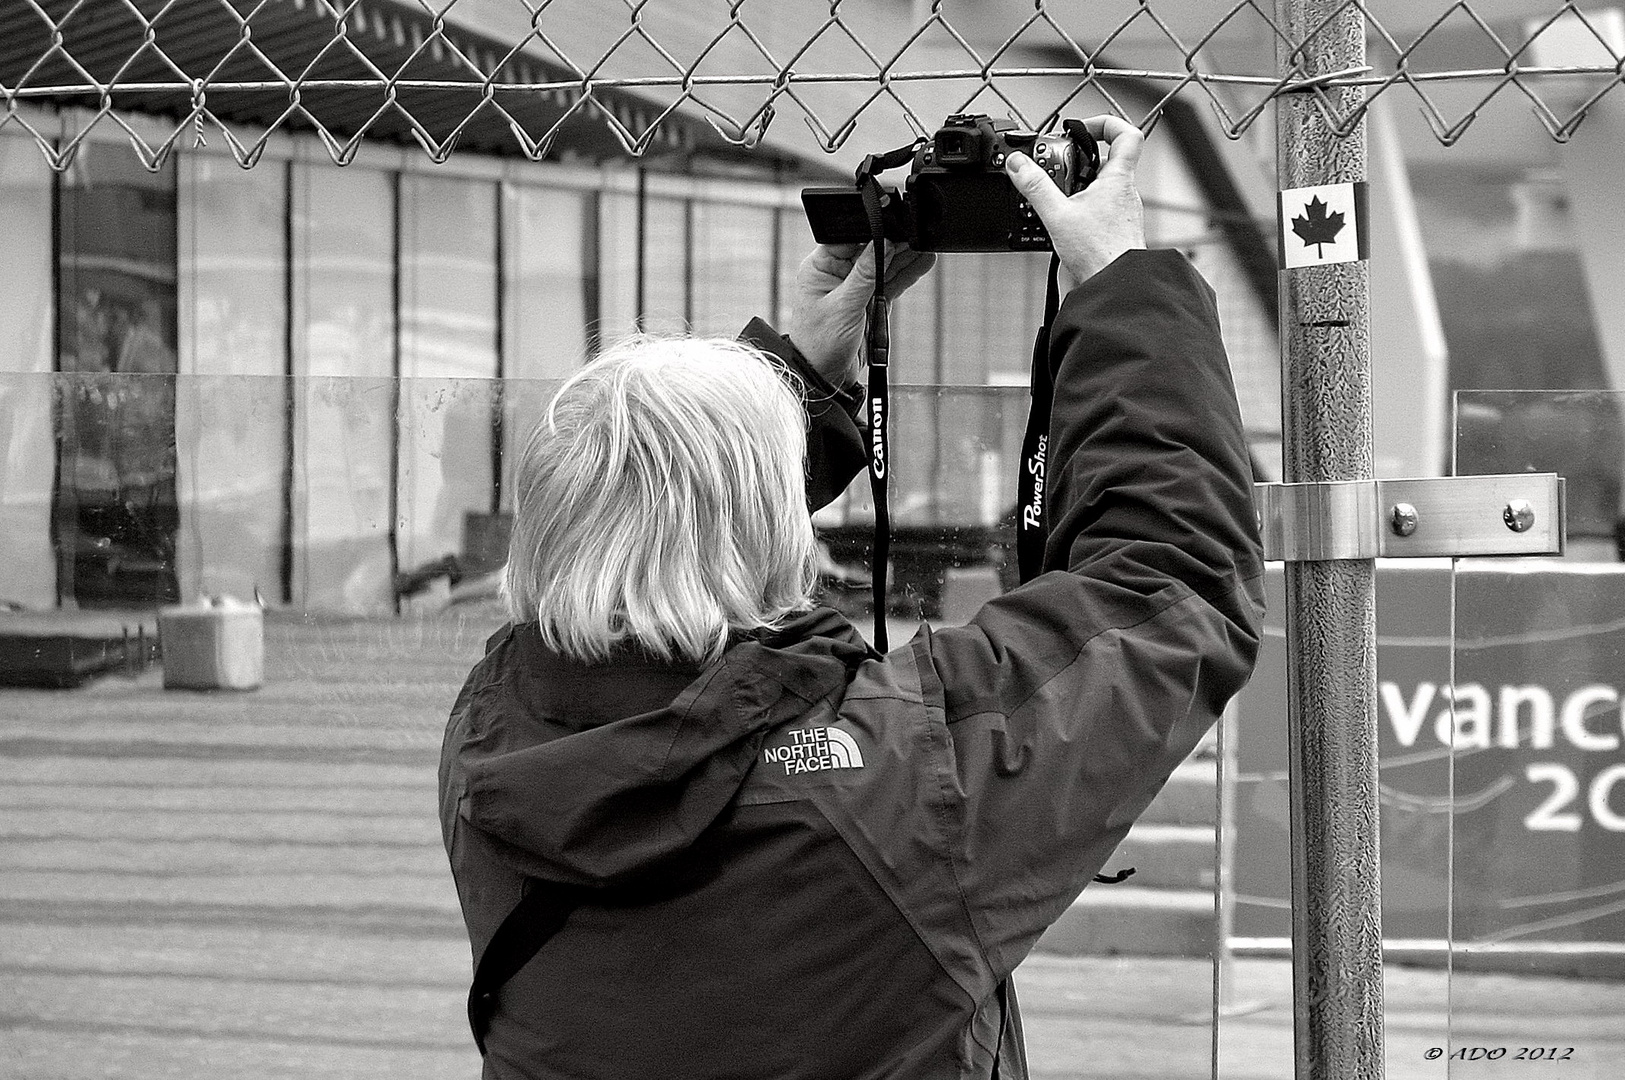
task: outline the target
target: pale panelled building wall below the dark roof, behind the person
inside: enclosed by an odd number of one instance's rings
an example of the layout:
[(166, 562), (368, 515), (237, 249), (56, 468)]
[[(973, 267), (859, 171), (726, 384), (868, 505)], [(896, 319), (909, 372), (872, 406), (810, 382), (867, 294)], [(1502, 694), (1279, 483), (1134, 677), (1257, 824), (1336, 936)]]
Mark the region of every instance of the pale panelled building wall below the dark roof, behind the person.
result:
[[(0, 130), (0, 599), (384, 612), (403, 573), (489, 564), (518, 440), (606, 341), (785, 325), (821, 169), (434, 164), (388, 143), (335, 167), (315, 135), (278, 133), (252, 169), (188, 145), (148, 171), (104, 125), (57, 174)], [(1181, 145), (1154, 141), (1144, 177), (1152, 242), (1219, 291), (1268, 460), (1269, 310)], [(1037, 255), (951, 255), (897, 302), (897, 525), (986, 526), (1014, 502), (1043, 274)], [(821, 523), (868, 520), (863, 489)]]

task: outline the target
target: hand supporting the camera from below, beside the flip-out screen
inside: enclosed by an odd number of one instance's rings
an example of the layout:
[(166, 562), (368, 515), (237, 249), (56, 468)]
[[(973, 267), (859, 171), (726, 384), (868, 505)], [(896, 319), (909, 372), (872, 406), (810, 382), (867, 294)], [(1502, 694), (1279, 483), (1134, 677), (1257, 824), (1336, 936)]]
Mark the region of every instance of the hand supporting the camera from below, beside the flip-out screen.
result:
[[(936, 263), (936, 255), (886, 242), (886, 297), (897, 299)], [(874, 294), (871, 245), (821, 245), (801, 260), (790, 296), (790, 339), (832, 387), (858, 375), (863, 320)]]

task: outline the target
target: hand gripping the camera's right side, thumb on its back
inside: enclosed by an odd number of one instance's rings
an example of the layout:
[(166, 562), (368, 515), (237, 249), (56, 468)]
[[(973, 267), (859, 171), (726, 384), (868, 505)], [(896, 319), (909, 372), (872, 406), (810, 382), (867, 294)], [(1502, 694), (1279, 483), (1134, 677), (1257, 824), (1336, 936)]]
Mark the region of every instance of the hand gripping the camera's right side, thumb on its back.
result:
[(1105, 146), (1107, 161), (1094, 184), (1071, 198), (1027, 154), (1004, 159), (1004, 171), (1022, 198), (1032, 203), (1061, 265), (1082, 284), (1123, 252), (1146, 247), (1146, 221), (1134, 187), (1134, 166), (1146, 136), (1128, 120), (1090, 117), (1089, 133)]

